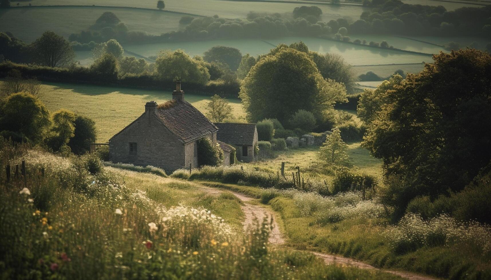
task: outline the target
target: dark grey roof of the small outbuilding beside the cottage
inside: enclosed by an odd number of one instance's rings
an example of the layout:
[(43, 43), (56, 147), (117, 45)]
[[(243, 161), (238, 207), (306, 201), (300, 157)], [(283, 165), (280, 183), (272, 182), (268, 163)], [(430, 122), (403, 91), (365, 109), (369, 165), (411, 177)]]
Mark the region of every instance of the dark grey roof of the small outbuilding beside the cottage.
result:
[(217, 140), (230, 145), (252, 146), (256, 124), (218, 123)]

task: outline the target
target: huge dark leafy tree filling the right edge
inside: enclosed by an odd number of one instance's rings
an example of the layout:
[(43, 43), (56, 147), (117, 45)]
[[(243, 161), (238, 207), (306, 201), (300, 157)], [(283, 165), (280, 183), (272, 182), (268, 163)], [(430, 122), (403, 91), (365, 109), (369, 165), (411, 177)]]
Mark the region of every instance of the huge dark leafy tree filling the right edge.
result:
[(363, 146), (382, 158), (399, 207), (461, 190), (491, 159), (491, 55), (467, 49), (433, 58), (386, 90), (367, 118)]

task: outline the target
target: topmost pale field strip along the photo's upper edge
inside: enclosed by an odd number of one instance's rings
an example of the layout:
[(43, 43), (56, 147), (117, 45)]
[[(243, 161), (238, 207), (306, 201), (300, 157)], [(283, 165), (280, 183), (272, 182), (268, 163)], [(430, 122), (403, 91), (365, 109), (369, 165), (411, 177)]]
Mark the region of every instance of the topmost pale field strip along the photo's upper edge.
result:
[[(12, 2), (16, 5), (16, 2)], [(21, 1), (21, 5), (100, 5), (100, 6), (124, 6), (156, 9), (156, 0), (27, 0)], [(295, 7), (301, 5), (315, 5), (322, 9), (324, 21), (346, 18), (357, 20), (363, 11), (369, 8), (361, 5), (326, 5), (314, 2), (299, 1), (292, 3), (283, 2), (253, 2), (253, 1), (227, 1), (227, 0), (165, 0), (165, 9), (182, 13), (190, 13), (203, 16), (219, 15), (224, 18), (245, 18), (250, 11), (272, 12), (291, 14)]]

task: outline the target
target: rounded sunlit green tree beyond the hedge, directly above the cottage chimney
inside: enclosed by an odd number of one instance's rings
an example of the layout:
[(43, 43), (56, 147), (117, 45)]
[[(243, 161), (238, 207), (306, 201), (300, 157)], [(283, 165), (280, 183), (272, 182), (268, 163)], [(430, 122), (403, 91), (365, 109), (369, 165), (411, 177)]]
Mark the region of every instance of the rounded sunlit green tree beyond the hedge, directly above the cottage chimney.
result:
[(155, 61), (158, 76), (164, 80), (206, 84), (210, 73), (202, 61), (192, 59), (183, 50), (160, 51)]

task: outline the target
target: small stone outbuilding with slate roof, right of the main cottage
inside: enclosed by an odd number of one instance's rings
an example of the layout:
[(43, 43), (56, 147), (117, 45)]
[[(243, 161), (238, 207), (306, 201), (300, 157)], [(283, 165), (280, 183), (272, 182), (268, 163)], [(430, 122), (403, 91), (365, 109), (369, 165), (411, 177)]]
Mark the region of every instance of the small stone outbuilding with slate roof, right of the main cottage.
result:
[(249, 162), (254, 160), (257, 147), (256, 124), (216, 123), (217, 139), (235, 146), (237, 160)]

